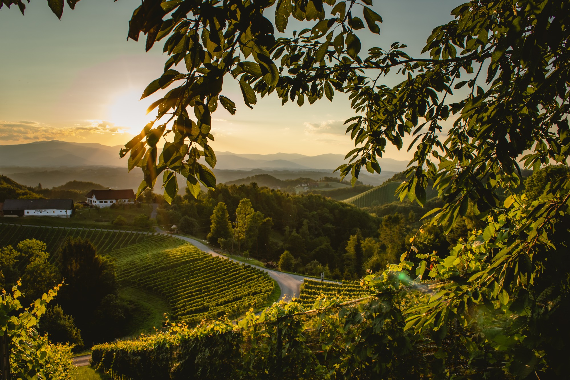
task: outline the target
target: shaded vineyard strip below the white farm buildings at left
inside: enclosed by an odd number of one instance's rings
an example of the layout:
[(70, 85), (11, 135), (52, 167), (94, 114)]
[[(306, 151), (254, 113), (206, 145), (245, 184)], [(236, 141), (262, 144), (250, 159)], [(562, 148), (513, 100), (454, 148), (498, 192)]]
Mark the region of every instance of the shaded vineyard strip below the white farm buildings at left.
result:
[(36, 239), (46, 243), (47, 252), (56, 260), (59, 247), (67, 237), (82, 237), (91, 241), (99, 254), (107, 254), (114, 249), (144, 242), (152, 234), (128, 231), (107, 231), (91, 228), (40, 227), (18, 224), (0, 224), (0, 247), (17, 245), (26, 239)]

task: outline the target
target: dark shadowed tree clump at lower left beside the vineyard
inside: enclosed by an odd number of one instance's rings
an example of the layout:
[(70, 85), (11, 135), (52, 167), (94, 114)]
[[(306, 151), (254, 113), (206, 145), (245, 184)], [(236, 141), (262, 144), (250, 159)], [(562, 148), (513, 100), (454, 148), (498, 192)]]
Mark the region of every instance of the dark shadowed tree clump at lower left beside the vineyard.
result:
[(117, 297), (114, 262), (97, 254), (88, 240), (67, 238), (55, 255), (34, 239), (3, 247), (0, 289), (9, 291), (20, 279), (22, 305), (63, 281), (39, 326), (52, 343), (71, 343), (80, 350), (124, 334), (132, 308)]

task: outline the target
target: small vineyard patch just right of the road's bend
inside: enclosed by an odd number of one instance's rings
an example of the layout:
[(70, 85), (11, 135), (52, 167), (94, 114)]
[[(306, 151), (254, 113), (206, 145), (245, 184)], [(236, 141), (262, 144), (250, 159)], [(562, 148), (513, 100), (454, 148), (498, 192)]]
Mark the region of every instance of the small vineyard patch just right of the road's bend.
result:
[(320, 282), (305, 278), (301, 284), (299, 298), (296, 302), (306, 309), (314, 308), (315, 301), (319, 296), (328, 299), (337, 298), (340, 301), (352, 301), (370, 296), (370, 292), (363, 288), (358, 282), (346, 282), (335, 284), (334, 282)]

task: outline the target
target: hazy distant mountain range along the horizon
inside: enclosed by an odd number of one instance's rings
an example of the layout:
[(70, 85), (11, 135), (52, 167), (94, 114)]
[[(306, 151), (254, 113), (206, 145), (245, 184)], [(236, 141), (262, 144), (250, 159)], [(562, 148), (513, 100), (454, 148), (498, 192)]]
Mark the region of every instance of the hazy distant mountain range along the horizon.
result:
[[(0, 145), (0, 166), (3, 167), (126, 167), (127, 159), (119, 159), (121, 145), (109, 147), (95, 143), (68, 143), (58, 140), (28, 144)], [(330, 170), (344, 161), (344, 155), (327, 153), (307, 156), (299, 153), (270, 155), (217, 152), (218, 170)], [(383, 172), (401, 172), (408, 161), (380, 159)]]

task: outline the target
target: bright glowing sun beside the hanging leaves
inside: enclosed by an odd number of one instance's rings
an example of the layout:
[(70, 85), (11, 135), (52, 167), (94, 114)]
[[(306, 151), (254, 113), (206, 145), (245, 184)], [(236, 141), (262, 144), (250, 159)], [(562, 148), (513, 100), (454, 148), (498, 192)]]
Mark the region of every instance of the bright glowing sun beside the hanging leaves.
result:
[(107, 108), (107, 120), (117, 127), (126, 127), (133, 135), (140, 134), (143, 127), (154, 120), (153, 112), (146, 115), (148, 99), (140, 99), (140, 91), (129, 90), (117, 94)]

